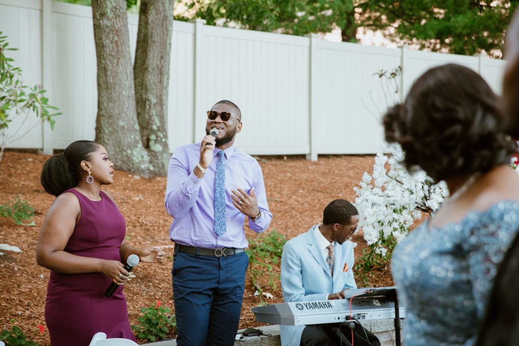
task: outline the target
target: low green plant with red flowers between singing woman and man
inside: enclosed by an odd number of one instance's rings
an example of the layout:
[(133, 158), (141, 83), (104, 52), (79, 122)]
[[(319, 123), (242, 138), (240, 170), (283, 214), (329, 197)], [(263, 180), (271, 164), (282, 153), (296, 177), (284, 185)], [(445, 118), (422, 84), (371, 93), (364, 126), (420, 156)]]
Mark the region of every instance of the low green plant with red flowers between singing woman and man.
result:
[(147, 309), (141, 308), (141, 312), (144, 315), (137, 319), (140, 324), (131, 326), (140, 339), (148, 339), (151, 342), (162, 340), (168, 336), (170, 328), (176, 328), (175, 315), (171, 314), (170, 309), (162, 306), (159, 300)]

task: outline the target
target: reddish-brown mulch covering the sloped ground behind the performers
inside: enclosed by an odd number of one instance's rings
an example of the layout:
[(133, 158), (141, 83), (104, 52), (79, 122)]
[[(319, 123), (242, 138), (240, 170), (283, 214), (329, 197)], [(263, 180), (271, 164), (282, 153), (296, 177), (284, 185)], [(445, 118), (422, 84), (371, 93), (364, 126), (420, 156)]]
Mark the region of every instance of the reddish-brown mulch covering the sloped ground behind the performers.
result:
[[(29, 201), (34, 207), (35, 227), (17, 226), (12, 218), (0, 217), (0, 244), (20, 247), (21, 253), (3, 251), (0, 255), (0, 328), (19, 326), (29, 339), (40, 345), (49, 345), (47, 328), (41, 333), (38, 325), (45, 326), (44, 308), (49, 270), (36, 264), (35, 250), (39, 228), (54, 197), (39, 183), (39, 174), (49, 156), (19, 151), (6, 151), (0, 161), (0, 205), (10, 203), (16, 196)], [(303, 156), (259, 157), (263, 169), (267, 197), (272, 215), (267, 232), (276, 230), (291, 239), (320, 222), (327, 203), (343, 198), (354, 201), (353, 187), (361, 181), (365, 171), (371, 171), (374, 156), (319, 156), (318, 161)], [(171, 217), (164, 207), (166, 177), (151, 179), (116, 171), (113, 185), (105, 186), (115, 197), (127, 223), (127, 242), (134, 247), (171, 245), (168, 230)], [(258, 236), (247, 229), (247, 236)], [(362, 230), (356, 232), (356, 257), (362, 254), (366, 242)], [(172, 255), (172, 252), (171, 252)], [(130, 323), (137, 324), (140, 308), (148, 308), (160, 300), (173, 309), (171, 288), (172, 260), (163, 264), (141, 264), (133, 269), (136, 275), (125, 286)], [(274, 267), (279, 273), (279, 265)], [(358, 281), (359, 282), (359, 281)], [(392, 286), (389, 270), (379, 272), (366, 287)], [(283, 301), (279, 280), (277, 289), (264, 287), (274, 298), (268, 304)], [(360, 286), (360, 285), (359, 285)], [(245, 283), (240, 328), (259, 326), (251, 307), (261, 303), (248, 279)], [(168, 336), (175, 337), (174, 331)], [(139, 340), (145, 343), (144, 340)]]

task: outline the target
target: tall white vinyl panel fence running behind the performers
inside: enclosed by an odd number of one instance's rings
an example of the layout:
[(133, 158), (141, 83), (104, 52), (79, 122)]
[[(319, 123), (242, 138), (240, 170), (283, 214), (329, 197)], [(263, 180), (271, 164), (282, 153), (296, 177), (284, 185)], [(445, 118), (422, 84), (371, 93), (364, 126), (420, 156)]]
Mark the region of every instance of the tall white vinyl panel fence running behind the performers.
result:
[[(135, 49), (138, 16), (128, 15)], [(63, 149), (95, 137), (97, 82), (92, 10), (51, 0), (0, 0), (0, 31), (26, 85), (43, 84), (63, 115), (54, 131), (34, 129), (8, 147)], [(504, 61), (333, 43), (318, 38), (229, 29), (202, 21), (173, 24), (168, 136), (170, 151), (201, 140), (206, 110), (228, 99), (242, 110), (236, 146), (251, 155), (371, 154), (383, 144), (380, 113), (393, 103), (380, 70), (402, 66), (405, 94), (428, 68), (448, 62), (479, 72), (500, 92)]]

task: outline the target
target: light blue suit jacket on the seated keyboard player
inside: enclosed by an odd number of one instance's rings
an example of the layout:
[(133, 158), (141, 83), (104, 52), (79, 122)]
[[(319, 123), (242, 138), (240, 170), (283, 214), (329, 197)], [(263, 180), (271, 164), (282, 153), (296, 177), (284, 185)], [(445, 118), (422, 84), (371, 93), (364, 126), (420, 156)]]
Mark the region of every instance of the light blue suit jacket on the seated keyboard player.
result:
[[(357, 288), (353, 279), (353, 245), (348, 240), (334, 246), (333, 278), (313, 230), (289, 240), (281, 257), (281, 289), (285, 302), (326, 300), (330, 293)], [(343, 271), (345, 264), (347, 271)], [(305, 326), (280, 326), (281, 345), (299, 346)]]

